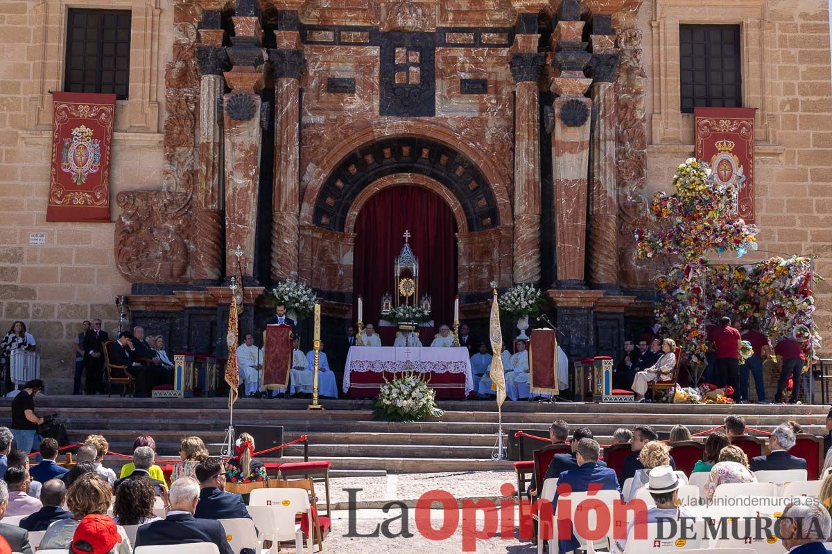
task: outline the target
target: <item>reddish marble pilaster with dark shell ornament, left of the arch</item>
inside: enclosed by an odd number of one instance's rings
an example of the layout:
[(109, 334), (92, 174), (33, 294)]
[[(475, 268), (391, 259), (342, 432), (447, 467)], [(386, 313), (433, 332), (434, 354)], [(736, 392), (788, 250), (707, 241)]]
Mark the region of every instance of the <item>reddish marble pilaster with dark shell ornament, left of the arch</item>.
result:
[[(240, 2), (241, 3), (241, 2)], [(237, 13), (240, 14), (238, 5)], [(243, 11), (243, 13), (247, 13)], [(260, 95), (265, 50), (255, 15), (233, 17), (235, 37), (228, 48), (233, 68), (225, 72), (232, 89), (225, 106), (225, 275), (235, 275), (237, 245), (243, 251), (243, 277), (254, 276), (255, 220), (260, 184)]]

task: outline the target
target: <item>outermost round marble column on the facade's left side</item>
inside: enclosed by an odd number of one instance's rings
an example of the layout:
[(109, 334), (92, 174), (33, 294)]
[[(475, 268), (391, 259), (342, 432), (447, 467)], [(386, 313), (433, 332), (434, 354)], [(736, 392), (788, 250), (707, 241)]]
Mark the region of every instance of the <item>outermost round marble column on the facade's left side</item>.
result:
[(223, 277), (222, 240), (222, 128), (217, 104), (225, 92), (223, 72), (228, 55), (222, 47), (222, 30), (201, 30), (202, 45), (196, 47), (200, 66), (199, 167), (196, 180), (196, 280)]

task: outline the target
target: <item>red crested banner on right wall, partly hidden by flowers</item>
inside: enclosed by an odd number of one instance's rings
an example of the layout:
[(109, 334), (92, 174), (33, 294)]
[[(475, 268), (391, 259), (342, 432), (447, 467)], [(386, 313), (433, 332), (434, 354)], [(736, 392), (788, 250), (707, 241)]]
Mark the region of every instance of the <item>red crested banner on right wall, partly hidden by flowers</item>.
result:
[[(694, 108), (696, 159), (711, 164), (722, 185), (741, 184), (735, 211), (754, 223), (754, 112), (755, 108)], [(742, 180), (740, 178), (740, 180)]]

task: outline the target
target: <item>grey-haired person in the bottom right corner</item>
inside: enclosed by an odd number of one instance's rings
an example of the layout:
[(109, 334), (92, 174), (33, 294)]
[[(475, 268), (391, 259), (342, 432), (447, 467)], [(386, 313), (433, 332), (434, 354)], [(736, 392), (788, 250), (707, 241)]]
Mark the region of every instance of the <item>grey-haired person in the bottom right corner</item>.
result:
[(830, 512), (817, 501), (791, 503), (780, 517), (780, 537), (789, 554), (830, 554), (824, 546), (830, 532)]

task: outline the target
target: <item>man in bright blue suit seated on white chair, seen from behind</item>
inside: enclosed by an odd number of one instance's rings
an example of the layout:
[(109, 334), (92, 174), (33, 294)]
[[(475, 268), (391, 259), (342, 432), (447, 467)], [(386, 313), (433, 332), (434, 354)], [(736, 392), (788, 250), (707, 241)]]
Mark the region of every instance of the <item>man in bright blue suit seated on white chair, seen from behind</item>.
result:
[[(555, 510), (555, 525), (557, 525), (557, 497), (563, 492), (564, 488), (572, 493), (586, 493), (592, 486), (593, 491), (602, 490), (621, 493), (616, 472), (598, 465), (598, 456), (600, 455), (601, 446), (597, 441), (593, 439), (578, 441), (575, 448), (578, 467), (561, 473), (557, 478), (557, 493), (555, 493), (555, 498), (552, 500), (552, 507)], [(558, 542), (558, 549), (561, 554), (573, 551), (580, 546), (574, 535), (569, 539), (561, 539)]]

